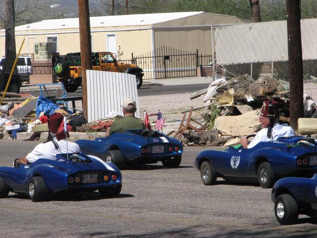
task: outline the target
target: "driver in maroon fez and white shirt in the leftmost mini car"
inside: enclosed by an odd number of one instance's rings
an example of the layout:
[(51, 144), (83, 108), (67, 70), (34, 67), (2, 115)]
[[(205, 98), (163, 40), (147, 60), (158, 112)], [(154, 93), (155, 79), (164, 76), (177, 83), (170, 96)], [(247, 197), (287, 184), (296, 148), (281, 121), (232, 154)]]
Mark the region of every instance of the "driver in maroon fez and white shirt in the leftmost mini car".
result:
[(45, 143), (38, 144), (35, 148), (27, 155), (20, 159), (15, 159), (13, 166), (16, 167), (20, 164), (27, 165), (34, 163), (40, 158), (55, 159), (55, 155), (63, 153), (80, 153), (79, 145), (76, 143), (66, 141), (64, 131), (59, 133), (58, 129), (63, 122), (63, 115), (60, 113), (54, 113), (49, 117), (49, 138)]

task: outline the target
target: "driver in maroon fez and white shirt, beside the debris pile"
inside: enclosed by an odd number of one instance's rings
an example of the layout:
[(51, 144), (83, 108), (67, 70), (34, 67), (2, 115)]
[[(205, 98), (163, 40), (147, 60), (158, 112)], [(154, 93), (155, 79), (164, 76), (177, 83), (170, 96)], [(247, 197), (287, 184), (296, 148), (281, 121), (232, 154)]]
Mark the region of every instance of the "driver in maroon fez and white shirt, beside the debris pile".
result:
[(263, 102), (259, 121), (261, 122), (262, 129), (250, 143), (246, 137), (240, 138), (240, 143), (244, 149), (252, 148), (262, 141), (272, 141), (278, 137), (295, 136), (292, 127), (279, 123), (278, 103), (274, 100)]

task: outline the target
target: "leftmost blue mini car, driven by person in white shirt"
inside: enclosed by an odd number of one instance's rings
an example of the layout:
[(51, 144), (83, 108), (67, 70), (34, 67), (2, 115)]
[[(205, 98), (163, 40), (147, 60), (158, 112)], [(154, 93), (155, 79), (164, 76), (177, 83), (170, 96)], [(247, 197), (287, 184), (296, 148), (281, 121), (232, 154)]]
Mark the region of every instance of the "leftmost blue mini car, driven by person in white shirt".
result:
[(9, 191), (26, 193), (34, 201), (47, 200), (62, 191), (99, 191), (117, 196), (121, 191), (121, 172), (110, 163), (82, 153), (58, 154), (55, 160), (38, 159), (29, 165), (0, 167), (0, 198)]

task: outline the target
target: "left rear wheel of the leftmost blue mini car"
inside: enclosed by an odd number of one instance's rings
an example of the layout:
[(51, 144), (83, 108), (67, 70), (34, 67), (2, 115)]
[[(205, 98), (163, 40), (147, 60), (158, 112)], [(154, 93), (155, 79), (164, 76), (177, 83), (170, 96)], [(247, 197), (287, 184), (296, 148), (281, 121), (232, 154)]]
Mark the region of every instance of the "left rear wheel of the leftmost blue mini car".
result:
[(49, 190), (42, 177), (33, 177), (29, 181), (28, 195), (33, 202), (45, 201), (49, 197)]

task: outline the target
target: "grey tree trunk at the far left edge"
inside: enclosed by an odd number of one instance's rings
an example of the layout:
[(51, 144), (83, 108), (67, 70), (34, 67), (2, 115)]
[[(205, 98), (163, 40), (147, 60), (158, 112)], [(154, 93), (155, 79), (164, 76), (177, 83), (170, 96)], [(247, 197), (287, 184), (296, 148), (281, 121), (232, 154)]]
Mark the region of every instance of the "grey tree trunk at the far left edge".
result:
[(16, 50), (15, 50), (15, 11), (14, 1), (5, 0), (4, 3), (5, 18), (4, 18), (4, 29), (5, 29), (5, 60), (2, 67), (2, 74), (0, 77), (0, 89), (4, 86), (4, 72), (10, 72), (13, 66)]

